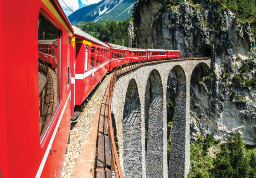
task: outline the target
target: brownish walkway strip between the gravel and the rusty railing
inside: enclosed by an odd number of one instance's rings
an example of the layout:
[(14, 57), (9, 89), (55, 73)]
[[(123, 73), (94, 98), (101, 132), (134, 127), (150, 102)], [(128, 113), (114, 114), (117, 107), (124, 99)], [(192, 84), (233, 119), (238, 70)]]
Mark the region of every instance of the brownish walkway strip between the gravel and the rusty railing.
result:
[(87, 139), (83, 143), (78, 164), (73, 172), (75, 178), (111, 178), (109, 139), (105, 135), (108, 124), (107, 101), (108, 90), (102, 98), (102, 103), (92, 122)]

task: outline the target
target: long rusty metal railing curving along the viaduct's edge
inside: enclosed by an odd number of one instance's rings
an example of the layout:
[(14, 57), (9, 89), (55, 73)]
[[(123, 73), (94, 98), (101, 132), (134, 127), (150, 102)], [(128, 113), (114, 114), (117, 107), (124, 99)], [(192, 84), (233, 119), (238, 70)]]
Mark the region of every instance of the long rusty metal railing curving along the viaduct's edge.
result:
[[(126, 73), (130, 70), (133, 70), (135, 68), (138, 68), (140, 66), (145, 66), (151, 63), (159, 63), (159, 62), (166, 62), (166, 61), (186, 61), (186, 60), (201, 60), (201, 59), (211, 59), (211, 56), (181, 56), (180, 58), (168, 58), (168, 59), (153, 59), (153, 60), (143, 60), (143, 61), (136, 61), (132, 63), (128, 63), (127, 65), (123, 64), (122, 66), (117, 67), (113, 73), (111, 74), (111, 79), (109, 80), (109, 87), (108, 87), (108, 118), (109, 118), (109, 136), (111, 138), (111, 161), (114, 165), (111, 165), (111, 170), (114, 171), (116, 178), (118, 178), (117, 171), (119, 173), (119, 178), (123, 178), (123, 172), (121, 170), (121, 165), (119, 162), (119, 157), (116, 150), (116, 143), (114, 140), (114, 131), (113, 131), (113, 125), (112, 125), (112, 118), (111, 118), (111, 103), (112, 103), (112, 94), (114, 93), (114, 86), (116, 83), (116, 79), (119, 75), (122, 73)], [(117, 167), (117, 170), (116, 170)]]

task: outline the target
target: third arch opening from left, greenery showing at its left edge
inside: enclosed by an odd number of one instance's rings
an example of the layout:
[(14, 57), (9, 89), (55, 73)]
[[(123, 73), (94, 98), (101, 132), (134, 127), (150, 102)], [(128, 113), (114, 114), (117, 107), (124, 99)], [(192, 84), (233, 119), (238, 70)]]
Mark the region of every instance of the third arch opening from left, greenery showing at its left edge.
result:
[(186, 92), (185, 72), (181, 66), (174, 66), (168, 75), (166, 92), (167, 112), (170, 112), (167, 113), (167, 129), (170, 129), (167, 134), (168, 177), (185, 176)]

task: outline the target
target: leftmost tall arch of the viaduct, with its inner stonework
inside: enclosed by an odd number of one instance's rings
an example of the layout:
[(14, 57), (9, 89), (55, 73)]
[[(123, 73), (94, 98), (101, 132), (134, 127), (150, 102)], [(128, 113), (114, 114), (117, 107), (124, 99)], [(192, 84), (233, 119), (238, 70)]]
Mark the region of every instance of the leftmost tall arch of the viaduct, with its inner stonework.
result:
[(137, 83), (130, 80), (123, 110), (123, 173), (126, 178), (142, 177), (142, 132)]

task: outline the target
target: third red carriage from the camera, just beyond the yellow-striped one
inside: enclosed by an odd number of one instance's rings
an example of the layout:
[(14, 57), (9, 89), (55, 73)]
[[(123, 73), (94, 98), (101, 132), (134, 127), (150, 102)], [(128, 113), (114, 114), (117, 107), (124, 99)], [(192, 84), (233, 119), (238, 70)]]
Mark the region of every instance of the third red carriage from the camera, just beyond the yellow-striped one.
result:
[(129, 51), (127, 47), (106, 43), (110, 48), (109, 71), (113, 68), (129, 63)]

